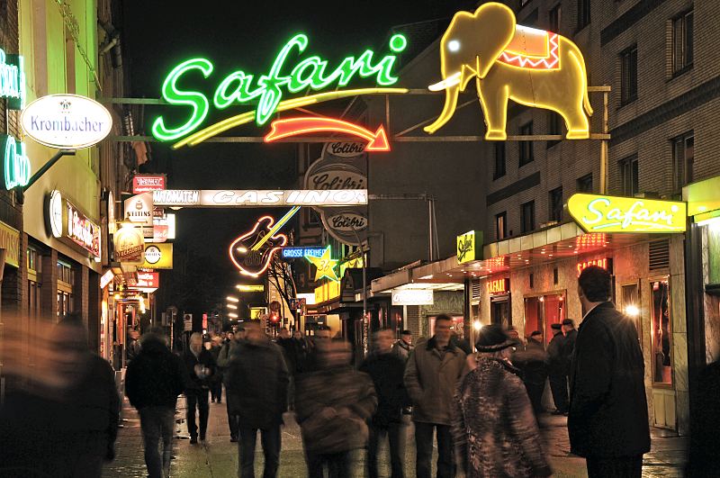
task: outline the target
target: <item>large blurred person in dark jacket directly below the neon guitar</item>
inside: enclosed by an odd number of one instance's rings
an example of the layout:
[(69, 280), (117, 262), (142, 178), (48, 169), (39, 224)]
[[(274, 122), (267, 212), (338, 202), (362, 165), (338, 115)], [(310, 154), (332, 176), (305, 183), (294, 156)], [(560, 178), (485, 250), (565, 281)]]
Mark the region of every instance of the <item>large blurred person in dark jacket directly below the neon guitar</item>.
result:
[(238, 416), (238, 476), (253, 477), (257, 431), (265, 455), (265, 478), (277, 474), (280, 464), (280, 425), (287, 410), (289, 374), (283, 349), (271, 342), (259, 321), (245, 324), (246, 341), (230, 358), (225, 387), (228, 410)]

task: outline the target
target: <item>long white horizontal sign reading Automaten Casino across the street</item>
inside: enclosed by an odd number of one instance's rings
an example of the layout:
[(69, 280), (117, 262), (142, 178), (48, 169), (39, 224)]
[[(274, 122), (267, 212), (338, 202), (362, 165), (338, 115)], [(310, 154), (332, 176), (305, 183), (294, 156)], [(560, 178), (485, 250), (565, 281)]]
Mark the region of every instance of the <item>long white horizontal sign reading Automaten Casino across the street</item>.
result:
[(347, 206), (367, 204), (367, 190), (166, 189), (153, 192), (160, 207)]

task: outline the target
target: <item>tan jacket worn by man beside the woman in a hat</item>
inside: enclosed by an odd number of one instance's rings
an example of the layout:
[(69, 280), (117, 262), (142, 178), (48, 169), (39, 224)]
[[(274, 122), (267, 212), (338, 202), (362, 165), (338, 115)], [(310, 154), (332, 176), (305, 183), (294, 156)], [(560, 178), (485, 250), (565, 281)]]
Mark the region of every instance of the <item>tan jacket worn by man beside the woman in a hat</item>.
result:
[(453, 395), (463, 374), (465, 353), (452, 341), (440, 352), (436, 343), (434, 337), (418, 341), (405, 368), (405, 387), (412, 400), (414, 421), (450, 425)]

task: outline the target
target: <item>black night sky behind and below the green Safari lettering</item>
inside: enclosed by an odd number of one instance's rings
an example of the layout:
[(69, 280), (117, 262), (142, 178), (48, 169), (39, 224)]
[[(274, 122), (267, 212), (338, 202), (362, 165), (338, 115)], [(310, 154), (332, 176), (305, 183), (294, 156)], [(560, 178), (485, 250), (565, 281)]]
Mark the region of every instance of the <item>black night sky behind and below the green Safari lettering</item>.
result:
[[(201, 56), (214, 64), (205, 84), (211, 91), (231, 71), (265, 74), (277, 51), (297, 32), (309, 45), (303, 57), (318, 54), (338, 60), (366, 48), (386, 51), (393, 26), (452, 16), (473, 2), (459, 0), (363, 0), (354, 2), (248, 2), (208, 0), (167, 2), (124, 0), (122, 47), (130, 72), (127, 96), (159, 98), (166, 74), (184, 59)], [(183, 7), (182, 5), (187, 5)], [(468, 5), (469, 4), (469, 5)], [(295, 57), (297, 58), (297, 57)], [(344, 105), (338, 105), (342, 111)], [(230, 107), (223, 116), (247, 111)], [(146, 110), (146, 124), (160, 111)], [(205, 125), (210, 124), (206, 121)], [(146, 128), (146, 131), (148, 128)], [(230, 135), (262, 135), (253, 125)], [(166, 173), (173, 189), (272, 189), (295, 186), (292, 145), (204, 144), (182, 151), (152, 143), (152, 161), (141, 171)], [(277, 213), (278, 210), (275, 210)], [(253, 209), (183, 210), (177, 216), (175, 248), (189, 248), (210, 258), (219, 282), (238, 283), (227, 247), (262, 213)], [(197, 271), (188, 271), (194, 274)]]

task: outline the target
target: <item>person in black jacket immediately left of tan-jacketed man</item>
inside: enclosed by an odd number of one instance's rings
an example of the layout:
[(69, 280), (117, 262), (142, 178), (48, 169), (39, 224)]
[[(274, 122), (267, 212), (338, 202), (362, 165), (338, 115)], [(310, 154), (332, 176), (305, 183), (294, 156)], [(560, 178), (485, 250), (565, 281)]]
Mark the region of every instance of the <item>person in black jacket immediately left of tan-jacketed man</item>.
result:
[(378, 447), (388, 437), (392, 478), (403, 478), (405, 462), (405, 426), (402, 408), (410, 406), (410, 396), (405, 390), (403, 374), (405, 360), (393, 353), (392, 330), (375, 332), (375, 350), (360, 365), (360, 372), (370, 375), (377, 393), (378, 406), (370, 422), (367, 467), (370, 478), (377, 478)]

